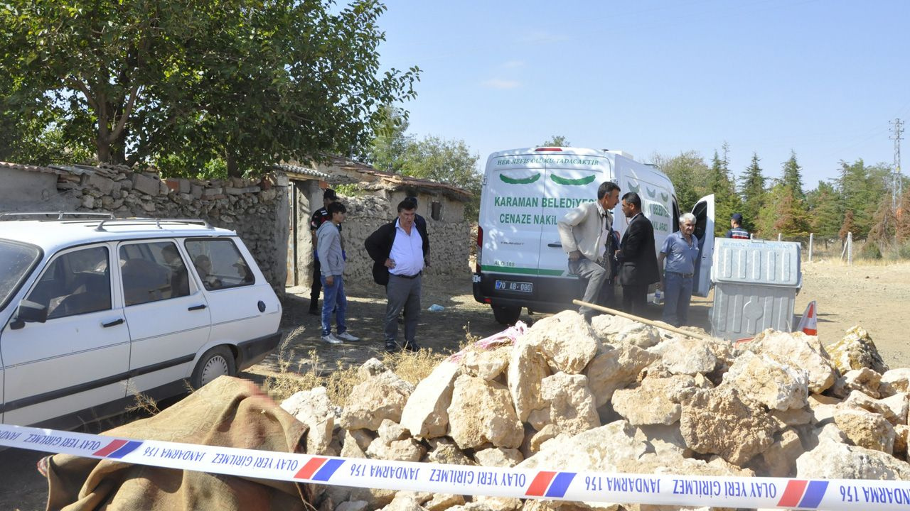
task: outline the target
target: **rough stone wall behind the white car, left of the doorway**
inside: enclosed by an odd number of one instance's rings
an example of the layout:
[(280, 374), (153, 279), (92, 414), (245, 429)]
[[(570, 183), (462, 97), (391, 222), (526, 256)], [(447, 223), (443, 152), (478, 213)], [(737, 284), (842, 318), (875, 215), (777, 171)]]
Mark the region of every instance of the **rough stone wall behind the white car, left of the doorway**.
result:
[[(82, 170), (77, 172), (76, 170)], [(287, 179), (241, 178), (162, 180), (154, 169), (134, 172), (122, 165), (76, 169), (59, 175), (57, 189), (77, 211), (116, 216), (203, 219), (236, 231), (279, 294), (288, 273)]]

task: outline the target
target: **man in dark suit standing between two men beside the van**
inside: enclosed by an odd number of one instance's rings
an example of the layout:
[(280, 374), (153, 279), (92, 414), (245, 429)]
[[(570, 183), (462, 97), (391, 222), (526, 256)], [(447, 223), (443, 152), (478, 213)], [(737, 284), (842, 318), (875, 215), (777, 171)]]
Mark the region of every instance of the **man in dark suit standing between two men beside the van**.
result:
[(654, 250), (654, 227), (642, 214), (642, 198), (635, 192), (622, 195), (622, 214), (629, 219), (616, 252), (620, 262), (622, 310), (643, 316), (648, 307), (648, 286), (661, 278)]

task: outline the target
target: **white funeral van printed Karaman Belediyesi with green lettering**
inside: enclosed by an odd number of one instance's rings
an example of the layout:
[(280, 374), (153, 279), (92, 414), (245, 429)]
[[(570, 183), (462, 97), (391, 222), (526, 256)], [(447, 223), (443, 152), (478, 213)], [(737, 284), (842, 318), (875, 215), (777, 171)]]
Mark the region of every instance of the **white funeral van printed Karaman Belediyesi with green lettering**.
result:
[[(496, 320), (513, 324), (521, 308), (557, 312), (574, 308), (584, 282), (569, 274), (556, 222), (572, 208), (597, 199), (604, 181), (620, 185), (620, 196), (636, 192), (642, 211), (654, 226), (654, 245), (679, 230), (680, 208), (670, 179), (653, 165), (636, 162), (622, 151), (577, 147), (531, 147), (490, 155), (483, 176), (477, 234), (474, 299), (490, 304)], [(693, 207), (701, 265), (695, 268), (698, 296), (711, 286), (714, 242), (714, 195)], [(625, 232), (620, 205), (613, 229)]]

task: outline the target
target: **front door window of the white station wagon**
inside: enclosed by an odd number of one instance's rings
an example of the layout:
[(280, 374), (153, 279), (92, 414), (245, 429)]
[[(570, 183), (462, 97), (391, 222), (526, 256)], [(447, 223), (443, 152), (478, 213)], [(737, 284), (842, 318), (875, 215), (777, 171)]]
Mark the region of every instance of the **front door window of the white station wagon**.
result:
[(106, 246), (95, 246), (59, 255), (25, 299), (46, 306), (47, 319), (110, 309), (107, 254)]

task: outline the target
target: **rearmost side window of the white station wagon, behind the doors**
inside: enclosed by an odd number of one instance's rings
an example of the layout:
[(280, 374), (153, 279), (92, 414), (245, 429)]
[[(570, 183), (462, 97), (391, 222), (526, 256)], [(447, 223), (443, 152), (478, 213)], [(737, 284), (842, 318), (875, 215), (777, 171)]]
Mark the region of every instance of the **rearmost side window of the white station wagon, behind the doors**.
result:
[(233, 240), (190, 239), (184, 246), (207, 290), (252, 286), (256, 282), (253, 271)]

